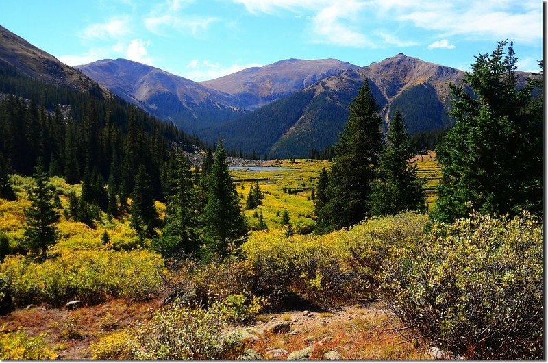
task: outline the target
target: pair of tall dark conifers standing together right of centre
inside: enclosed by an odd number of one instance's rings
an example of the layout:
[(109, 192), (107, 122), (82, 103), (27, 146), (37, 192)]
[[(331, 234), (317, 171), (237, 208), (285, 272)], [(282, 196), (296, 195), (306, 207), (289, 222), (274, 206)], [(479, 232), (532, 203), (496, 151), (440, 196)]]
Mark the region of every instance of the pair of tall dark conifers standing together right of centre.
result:
[(334, 164), (319, 175), (314, 202), (316, 233), (350, 227), (372, 214), (422, 210), (423, 182), (412, 157), (403, 117), (396, 112), (386, 136), (382, 119), (366, 80), (349, 105), (349, 118), (334, 147)]

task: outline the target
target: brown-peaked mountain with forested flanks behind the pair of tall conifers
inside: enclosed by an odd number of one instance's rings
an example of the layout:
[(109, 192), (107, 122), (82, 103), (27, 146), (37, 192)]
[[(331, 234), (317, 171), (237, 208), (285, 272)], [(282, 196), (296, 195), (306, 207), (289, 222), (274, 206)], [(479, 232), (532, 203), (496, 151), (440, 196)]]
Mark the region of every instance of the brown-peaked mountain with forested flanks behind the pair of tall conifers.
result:
[[(322, 150), (336, 142), (338, 133), (346, 123), (348, 105), (358, 95), (365, 79), (369, 79), (369, 86), (385, 122), (398, 108), (406, 118), (409, 132), (439, 129), (450, 125), (447, 82), (459, 84), (463, 75), (464, 72), (454, 68), (399, 54), (370, 66), (327, 77), (288, 97), (285, 103), (293, 105), (294, 102), (289, 99), (312, 94), (300, 111), (286, 110), (278, 104), (275, 107), (273, 103), (264, 106), (264, 110), (256, 110), (227, 125), (208, 130), (203, 136), (212, 138), (222, 135), (227, 147), (236, 147), (242, 145), (243, 138), (260, 134), (261, 129), (270, 130), (273, 124), (284, 124), (281, 118), (285, 119), (287, 114), (298, 114), (275, 142), (262, 139), (260, 145), (254, 147), (256, 151), (261, 150), (261, 153), (278, 158), (307, 156), (313, 149)], [(265, 121), (264, 114), (269, 114), (268, 121)], [(263, 127), (263, 124), (268, 125)]]

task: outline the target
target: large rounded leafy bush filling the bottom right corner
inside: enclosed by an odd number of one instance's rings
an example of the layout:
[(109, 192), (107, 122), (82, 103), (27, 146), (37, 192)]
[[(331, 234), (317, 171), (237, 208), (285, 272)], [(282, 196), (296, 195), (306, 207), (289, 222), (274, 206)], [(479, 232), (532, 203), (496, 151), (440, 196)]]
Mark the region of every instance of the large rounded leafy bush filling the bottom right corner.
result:
[(399, 245), (382, 296), (436, 347), (470, 359), (543, 356), (543, 231), (530, 214), (473, 215)]

